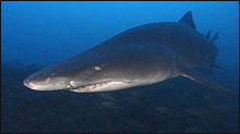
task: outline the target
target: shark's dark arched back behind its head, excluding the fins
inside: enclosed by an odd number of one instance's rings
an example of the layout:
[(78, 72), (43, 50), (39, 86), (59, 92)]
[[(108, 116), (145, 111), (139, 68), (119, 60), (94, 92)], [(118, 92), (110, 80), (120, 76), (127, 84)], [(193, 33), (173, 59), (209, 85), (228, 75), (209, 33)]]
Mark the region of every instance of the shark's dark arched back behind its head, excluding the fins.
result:
[[(184, 16), (183, 16), (184, 17)], [(214, 64), (217, 48), (214, 41), (184, 23), (160, 22), (141, 25), (104, 41), (103, 47), (112, 45), (168, 45), (190, 65)]]

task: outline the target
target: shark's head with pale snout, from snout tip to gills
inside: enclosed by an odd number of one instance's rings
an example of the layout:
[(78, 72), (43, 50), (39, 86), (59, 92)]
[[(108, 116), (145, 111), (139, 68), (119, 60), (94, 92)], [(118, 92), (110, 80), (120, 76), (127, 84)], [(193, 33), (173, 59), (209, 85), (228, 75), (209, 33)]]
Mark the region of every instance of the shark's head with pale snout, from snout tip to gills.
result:
[(107, 92), (153, 84), (172, 74), (173, 62), (166, 59), (168, 50), (110, 49), (89, 50), (48, 66), (26, 77), (24, 85), (35, 90)]

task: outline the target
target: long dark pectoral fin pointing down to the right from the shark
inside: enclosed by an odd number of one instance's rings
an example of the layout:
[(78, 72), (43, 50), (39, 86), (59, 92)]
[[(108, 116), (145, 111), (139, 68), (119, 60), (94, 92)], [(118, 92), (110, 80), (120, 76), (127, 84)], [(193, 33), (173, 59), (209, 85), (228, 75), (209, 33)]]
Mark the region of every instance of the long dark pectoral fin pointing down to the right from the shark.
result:
[(189, 77), (189, 78), (191, 78), (193, 81), (196, 81), (196, 82), (199, 82), (199, 83), (201, 83), (201, 84), (203, 84), (205, 86), (211, 87), (212, 89), (219, 90), (219, 92), (225, 93), (227, 95), (238, 96), (237, 93), (228, 90), (225, 87), (221, 87), (221, 86), (213, 83), (209, 77), (204, 76), (203, 74), (201, 74), (200, 72), (197, 72), (195, 70), (184, 68), (184, 69), (181, 69), (180, 72), (181, 72), (180, 74), (182, 76), (185, 76), (185, 77)]

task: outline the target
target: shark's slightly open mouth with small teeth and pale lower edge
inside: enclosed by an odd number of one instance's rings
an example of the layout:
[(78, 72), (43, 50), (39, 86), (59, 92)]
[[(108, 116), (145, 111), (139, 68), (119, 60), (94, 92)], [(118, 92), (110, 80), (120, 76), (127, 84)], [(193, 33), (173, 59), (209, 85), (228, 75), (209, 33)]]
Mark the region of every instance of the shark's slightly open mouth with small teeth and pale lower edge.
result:
[(131, 82), (106, 81), (77, 87), (73, 87), (70, 85), (70, 90), (75, 93), (101, 92), (103, 89), (110, 89), (115, 88), (116, 86), (128, 85), (129, 83)]

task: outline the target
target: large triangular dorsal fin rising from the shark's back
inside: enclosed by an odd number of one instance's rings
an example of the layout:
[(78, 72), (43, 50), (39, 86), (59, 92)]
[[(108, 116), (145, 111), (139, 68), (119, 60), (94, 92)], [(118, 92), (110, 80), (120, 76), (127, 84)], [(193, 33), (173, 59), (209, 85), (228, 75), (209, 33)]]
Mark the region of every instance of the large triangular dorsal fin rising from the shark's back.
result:
[(187, 12), (182, 16), (182, 19), (179, 21), (179, 23), (185, 24), (185, 25), (192, 27), (193, 29), (196, 29), (195, 24), (192, 19), (192, 11)]

